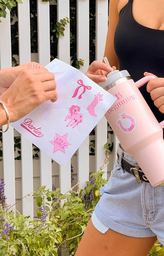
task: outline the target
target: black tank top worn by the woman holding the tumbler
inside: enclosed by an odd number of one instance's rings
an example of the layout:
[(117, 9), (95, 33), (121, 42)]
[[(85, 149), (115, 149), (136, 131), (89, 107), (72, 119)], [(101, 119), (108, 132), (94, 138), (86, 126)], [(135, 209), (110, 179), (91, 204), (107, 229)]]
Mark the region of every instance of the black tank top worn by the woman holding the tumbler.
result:
[[(114, 47), (120, 70), (126, 69), (134, 81), (142, 78), (145, 71), (164, 77), (164, 30), (150, 29), (137, 23), (132, 15), (132, 2), (129, 0), (121, 9), (115, 30)], [(146, 85), (139, 90), (156, 119), (163, 121), (164, 115), (155, 107)]]

